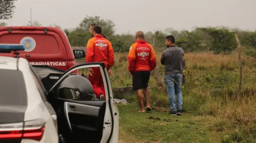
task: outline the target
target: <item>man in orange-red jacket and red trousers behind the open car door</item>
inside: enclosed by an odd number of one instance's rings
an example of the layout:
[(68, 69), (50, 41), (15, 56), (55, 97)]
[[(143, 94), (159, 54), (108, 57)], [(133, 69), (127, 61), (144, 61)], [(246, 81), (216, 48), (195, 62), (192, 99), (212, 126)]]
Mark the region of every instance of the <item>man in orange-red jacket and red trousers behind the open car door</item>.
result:
[[(86, 62), (104, 62), (109, 75), (112, 75), (114, 51), (111, 42), (101, 35), (99, 26), (93, 29), (94, 37), (88, 41)], [(89, 68), (89, 81), (99, 100), (105, 99), (105, 89), (99, 67)]]

